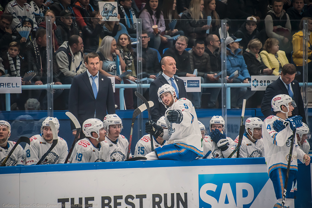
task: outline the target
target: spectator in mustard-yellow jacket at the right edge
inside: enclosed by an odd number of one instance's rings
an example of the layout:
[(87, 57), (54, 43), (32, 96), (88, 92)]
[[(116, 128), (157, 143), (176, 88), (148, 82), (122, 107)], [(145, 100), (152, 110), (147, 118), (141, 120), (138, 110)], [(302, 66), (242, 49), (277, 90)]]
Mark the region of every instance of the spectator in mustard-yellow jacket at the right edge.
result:
[[(302, 72), (302, 65), (303, 65), (303, 21), (304, 20), (309, 20), (308, 23), (308, 43), (307, 43), (307, 47), (310, 47), (311, 44), (311, 40), (312, 40), (312, 18), (310, 17), (303, 17), (300, 21), (300, 25), (299, 25), (299, 29), (300, 31), (296, 32), (293, 35), (292, 38), (292, 44), (293, 44), (293, 61), (294, 63), (297, 65), (297, 70), (298, 68), (301, 69)], [(311, 50), (308, 48), (308, 56), (311, 57)], [(311, 63), (311, 59), (307, 59), (308, 60), (308, 68), (310, 69), (312, 67), (312, 63)], [(311, 63), (311, 64), (310, 64)], [(299, 66), (299, 67), (298, 67)], [(299, 69), (299, 70), (300, 70)], [(311, 68), (312, 69), (312, 68)]]

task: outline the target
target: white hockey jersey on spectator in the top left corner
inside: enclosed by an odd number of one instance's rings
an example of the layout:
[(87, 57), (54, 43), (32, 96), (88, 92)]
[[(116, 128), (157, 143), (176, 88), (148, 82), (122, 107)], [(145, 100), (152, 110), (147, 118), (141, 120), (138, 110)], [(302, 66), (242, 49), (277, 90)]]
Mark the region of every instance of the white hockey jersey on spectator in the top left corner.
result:
[(13, 0), (7, 4), (5, 12), (10, 12), (13, 14), (13, 21), (10, 26), (12, 31), (14, 31), (17, 27), (22, 26), (21, 21), (26, 17), (32, 19), (32, 21), (34, 22), (34, 28), (37, 27), (37, 22), (35, 19), (35, 15), (33, 13), (34, 12), (33, 8), (27, 3), (24, 3), (23, 7), (21, 7), (20, 5), (17, 4), (15, 0)]

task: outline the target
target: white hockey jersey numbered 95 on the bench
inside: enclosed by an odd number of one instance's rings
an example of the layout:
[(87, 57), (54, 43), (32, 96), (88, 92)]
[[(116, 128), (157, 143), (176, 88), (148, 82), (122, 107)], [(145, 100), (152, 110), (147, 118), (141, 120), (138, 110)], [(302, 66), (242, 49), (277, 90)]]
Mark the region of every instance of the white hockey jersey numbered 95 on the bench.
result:
[[(162, 145), (158, 143), (158, 141), (153, 136), (153, 145), (154, 149), (161, 147)], [(164, 144), (166, 141), (164, 141)], [(163, 145), (164, 145), (163, 144)], [(151, 148), (151, 137), (149, 134), (144, 135), (138, 143), (135, 145), (134, 157), (144, 157), (152, 151)]]

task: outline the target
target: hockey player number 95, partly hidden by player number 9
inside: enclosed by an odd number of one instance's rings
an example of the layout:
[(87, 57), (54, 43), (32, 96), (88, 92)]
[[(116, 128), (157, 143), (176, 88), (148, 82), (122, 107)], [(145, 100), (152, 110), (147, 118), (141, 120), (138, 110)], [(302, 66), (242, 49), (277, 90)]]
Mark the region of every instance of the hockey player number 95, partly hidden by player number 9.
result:
[[(157, 125), (162, 127), (163, 129), (168, 129), (165, 121), (165, 116), (162, 116), (158, 119)], [(165, 140), (161, 137), (155, 137), (153, 136), (153, 144), (154, 149), (163, 146), (165, 144)], [(134, 157), (144, 157), (146, 154), (150, 153), (152, 151), (151, 148), (151, 138), (150, 134), (144, 135), (138, 143), (135, 145), (135, 151), (134, 151)]]

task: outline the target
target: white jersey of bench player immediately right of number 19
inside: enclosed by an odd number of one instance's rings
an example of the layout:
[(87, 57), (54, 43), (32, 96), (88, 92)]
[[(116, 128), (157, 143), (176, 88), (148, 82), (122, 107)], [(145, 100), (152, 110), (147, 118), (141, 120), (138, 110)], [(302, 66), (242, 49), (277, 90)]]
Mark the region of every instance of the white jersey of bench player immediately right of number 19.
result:
[[(129, 142), (128, 139), (124, 137), (124, 135), (119, 135), (118, 139), (116, 139), (115, 141), (116, 144), (111, 142), (110, 139), (107, 138), (107, 136), (105, 138), (105, 141), (107, 142), (106, 145), (108, 145), (110, 149), (110, 161), (120, 162), (126, 159)], [(101, 144), (102, 143), (103, 142), (101, 142)], [(129, 157), (131, 158), (131, 152)]]

